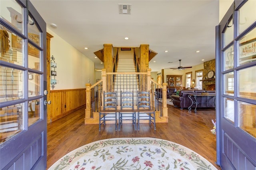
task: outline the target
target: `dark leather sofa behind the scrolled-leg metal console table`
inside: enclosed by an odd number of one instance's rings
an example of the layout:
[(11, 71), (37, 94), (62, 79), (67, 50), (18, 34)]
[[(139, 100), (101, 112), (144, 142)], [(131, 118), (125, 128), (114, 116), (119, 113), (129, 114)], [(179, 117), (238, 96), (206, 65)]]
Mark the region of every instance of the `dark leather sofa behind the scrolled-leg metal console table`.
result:
[[(179, 107), (180, 109), (184, 109), (184, 108), (188, 108), (190, 107), (190, 105), (192, 104), (192, 101), (188, 98), (189, 94), (192, 93), (197, 93), (197, 94), (201, 94), (201, 93), (214, 93), (215, 91), (212, 90), (181, 90), (179, 95), (172, 95), (172, 102), (173, 105), (175, 107)], [(191, 96), (191, 98), (194, 100), (194, 97)], [(197, 101), (198, 101), (198, 105), (197, 108), (201, 108), (201, 107), (215, 107), (214, 105), (214, 96), (207, 96), (207, 97), (200, 97), (197, 96), (196, 97)], [(193, 104), (191, 106), (192, 108), (196, 107), (196, 104)]]

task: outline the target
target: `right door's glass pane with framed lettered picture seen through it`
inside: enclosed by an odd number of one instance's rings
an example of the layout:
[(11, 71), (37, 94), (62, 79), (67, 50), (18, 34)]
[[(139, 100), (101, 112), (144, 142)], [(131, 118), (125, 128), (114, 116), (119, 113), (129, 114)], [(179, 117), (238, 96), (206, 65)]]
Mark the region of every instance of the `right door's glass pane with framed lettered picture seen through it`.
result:
[(256, 61), (256, 28), (239, 40), (239, 65)]

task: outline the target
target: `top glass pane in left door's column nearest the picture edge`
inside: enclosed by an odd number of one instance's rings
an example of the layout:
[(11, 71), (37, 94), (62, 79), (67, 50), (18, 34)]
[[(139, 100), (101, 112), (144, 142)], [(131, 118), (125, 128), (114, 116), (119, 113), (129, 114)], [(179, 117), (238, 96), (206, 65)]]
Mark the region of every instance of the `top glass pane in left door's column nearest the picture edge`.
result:
[(23, 33), (22, 7), (15, 0), (0, 0), (0, 18)]

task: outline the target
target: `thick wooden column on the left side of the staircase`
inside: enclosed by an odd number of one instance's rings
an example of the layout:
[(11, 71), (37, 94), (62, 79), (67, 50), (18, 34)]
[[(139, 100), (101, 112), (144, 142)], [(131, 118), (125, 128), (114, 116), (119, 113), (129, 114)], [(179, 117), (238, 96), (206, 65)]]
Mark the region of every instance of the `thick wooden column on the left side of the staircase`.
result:
[[(112, 44), (104, 44), (104, 69), (106, 69), (106, 71), (108, 73), (113, 72), (112, 67), (113, 67), (113, 46)], [(110, 87), (111, 87), (111, 76), (108, 75), (107, 76), (107, 87), (108, 90), (107, 91), (111, 91)], [(106, 90), (105, 90), (106, 91)]]

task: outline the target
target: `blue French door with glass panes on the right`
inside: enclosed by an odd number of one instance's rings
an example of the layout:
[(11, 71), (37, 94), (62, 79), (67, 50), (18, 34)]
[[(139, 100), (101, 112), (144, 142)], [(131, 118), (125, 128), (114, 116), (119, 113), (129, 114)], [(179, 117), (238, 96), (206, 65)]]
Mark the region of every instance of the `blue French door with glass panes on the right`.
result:
[(235, 0), (216, 26), (217, 163), (256, 169), (256, 1)]

